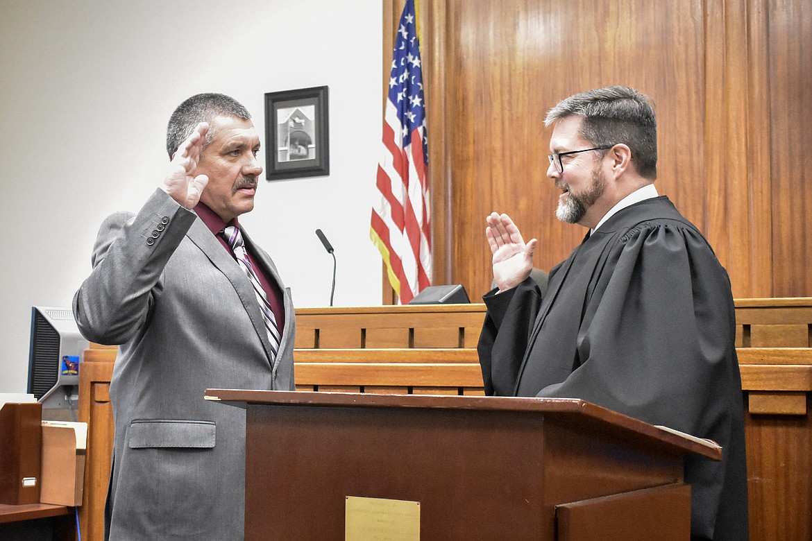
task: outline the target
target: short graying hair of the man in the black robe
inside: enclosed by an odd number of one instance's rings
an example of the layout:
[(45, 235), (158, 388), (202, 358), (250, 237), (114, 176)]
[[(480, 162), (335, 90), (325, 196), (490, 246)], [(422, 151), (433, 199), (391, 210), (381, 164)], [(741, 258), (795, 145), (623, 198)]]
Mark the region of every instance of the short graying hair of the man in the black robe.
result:
[(573, 114), (584, 117), (581, 137), (596, 147), (626, 144), (637, 173), (657, 178), (657, 120), (648, 97), (620, 86), (581, 92), (550, 109), (544, 125)]

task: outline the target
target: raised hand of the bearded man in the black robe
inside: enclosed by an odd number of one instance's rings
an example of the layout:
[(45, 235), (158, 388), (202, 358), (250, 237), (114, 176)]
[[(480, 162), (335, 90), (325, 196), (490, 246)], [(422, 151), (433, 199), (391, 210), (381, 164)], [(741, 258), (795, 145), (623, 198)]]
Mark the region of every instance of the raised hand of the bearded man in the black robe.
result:
[(507, 214), (490, 213), (485, 230), (493, 255), (494, 280), (499, 291), (518, 286), (533, 270), (535, 238), (525, 244), (516, 224)]

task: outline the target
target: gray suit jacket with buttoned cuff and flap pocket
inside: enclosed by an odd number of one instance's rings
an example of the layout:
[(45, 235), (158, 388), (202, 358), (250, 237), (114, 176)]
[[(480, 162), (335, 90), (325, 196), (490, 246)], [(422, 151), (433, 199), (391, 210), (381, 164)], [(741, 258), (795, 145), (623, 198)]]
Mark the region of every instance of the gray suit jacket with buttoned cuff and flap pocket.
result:
[(73, 311), (88, 340), (119, 345), (110, 539), (243, 538), (245, 412), (204, 391), (294, 389), (296, 332), (290, 290), (244, 238), (285, 291), (273, 365), (248, 277), (195, 213), (157, 190), (99, 231)]

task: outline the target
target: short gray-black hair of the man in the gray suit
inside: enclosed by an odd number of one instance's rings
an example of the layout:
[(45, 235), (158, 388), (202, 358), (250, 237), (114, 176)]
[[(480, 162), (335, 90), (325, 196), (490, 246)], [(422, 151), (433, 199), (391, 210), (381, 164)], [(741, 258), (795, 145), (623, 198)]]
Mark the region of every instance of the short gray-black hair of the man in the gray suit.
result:
[[(209, 127), (214, 126), (214, 118), (235, 117), (249, 120), (251, 114), (248, 109), (233, 97), (225, 94), (205, 93), (192, 96), (182, 104), (178, 105), (175, 112), (169, 118), (169, 126), (166, 127), (166, 152), (170, 159), (181, 143), (192, 135), (197, 124), (208, 122)], [(214, 130), (209, 129), (206, 135), (206, 144), (214, 140)]]

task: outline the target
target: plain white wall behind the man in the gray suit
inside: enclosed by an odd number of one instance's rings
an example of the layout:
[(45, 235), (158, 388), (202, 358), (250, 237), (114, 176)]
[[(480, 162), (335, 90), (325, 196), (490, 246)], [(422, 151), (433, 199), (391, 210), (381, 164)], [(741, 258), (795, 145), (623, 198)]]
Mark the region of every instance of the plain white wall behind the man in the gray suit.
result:
[(330, 87), (330, 176), (263, 180), (240, 221), (296, 306), (330, 303), (317, 228), (335, 305), (380, 304), (381, 20), (380, 0), (0, 0), (0, 392), (26, 388), (31, 307), (70, 306), (98, 225), (152, 193), (198, 92), (241, 101), (264, 145), (265, 92)]

